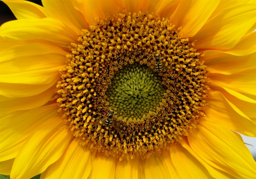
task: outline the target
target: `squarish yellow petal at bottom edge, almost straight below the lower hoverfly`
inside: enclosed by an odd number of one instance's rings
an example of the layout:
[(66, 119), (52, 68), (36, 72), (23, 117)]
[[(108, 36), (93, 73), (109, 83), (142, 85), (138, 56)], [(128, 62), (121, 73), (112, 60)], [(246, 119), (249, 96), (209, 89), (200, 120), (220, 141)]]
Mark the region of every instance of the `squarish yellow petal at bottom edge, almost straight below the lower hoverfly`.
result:
[(93, 168), (88, 179), (115, 179), (115, 166), (117, 160), (116, 157), (98, 153), (93, 161)]

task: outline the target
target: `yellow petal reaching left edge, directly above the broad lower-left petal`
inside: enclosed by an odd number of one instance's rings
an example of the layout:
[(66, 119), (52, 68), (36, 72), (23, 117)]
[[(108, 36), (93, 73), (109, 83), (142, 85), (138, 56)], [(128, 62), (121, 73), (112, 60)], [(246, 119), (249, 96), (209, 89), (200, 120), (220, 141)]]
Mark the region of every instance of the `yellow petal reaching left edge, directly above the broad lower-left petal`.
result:
[(17, 156), (20, 148), (45, 120), (57, 116), (56, 105), (2, 115), (0, 130), (0, 161)]

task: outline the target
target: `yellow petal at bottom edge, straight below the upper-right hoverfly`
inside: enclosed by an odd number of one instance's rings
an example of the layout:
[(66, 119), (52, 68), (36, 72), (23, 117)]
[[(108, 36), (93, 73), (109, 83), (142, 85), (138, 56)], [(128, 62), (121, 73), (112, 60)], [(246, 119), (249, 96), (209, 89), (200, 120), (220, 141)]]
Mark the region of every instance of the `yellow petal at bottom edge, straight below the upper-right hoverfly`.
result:
[(146, 159), (146, 179), (175, 179), (177, 173), (169, 156), (165, 151), (160, 156), (154, 155)]

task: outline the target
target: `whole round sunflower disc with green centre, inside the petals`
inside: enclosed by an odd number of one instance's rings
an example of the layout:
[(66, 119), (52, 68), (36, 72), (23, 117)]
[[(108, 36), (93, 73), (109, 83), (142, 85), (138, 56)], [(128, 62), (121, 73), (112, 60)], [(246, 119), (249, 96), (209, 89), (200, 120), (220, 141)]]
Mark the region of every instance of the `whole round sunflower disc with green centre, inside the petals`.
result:
[(56, 92), (58, 113), (80, 144), (119, 160), (144, 159), (196, 127), (210, 90), (207, 67), (179, 31), (141, 12), (106, 15), (82, 30)]

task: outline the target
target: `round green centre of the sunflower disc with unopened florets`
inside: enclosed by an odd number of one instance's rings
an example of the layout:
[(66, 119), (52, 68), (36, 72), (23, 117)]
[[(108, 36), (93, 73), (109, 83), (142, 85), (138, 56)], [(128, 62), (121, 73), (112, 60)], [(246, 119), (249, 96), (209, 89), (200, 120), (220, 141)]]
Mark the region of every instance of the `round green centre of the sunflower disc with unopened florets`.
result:
[(162, 79), (146, 65), (127, 65), (116, 72), (107, 89), (107, 101), (123, 118), (142, 118), (156, 112), (166, 91)]

